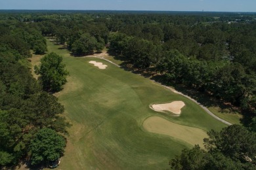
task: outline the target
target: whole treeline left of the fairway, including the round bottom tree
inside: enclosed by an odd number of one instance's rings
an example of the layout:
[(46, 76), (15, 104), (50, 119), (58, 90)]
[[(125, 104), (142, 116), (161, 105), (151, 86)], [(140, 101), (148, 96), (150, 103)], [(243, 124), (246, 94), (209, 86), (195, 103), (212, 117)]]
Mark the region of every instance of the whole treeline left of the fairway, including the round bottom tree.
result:
[[(23, 22), (5, 20), (0, 25), (0, 169), (21, 160), (48, 163), (64, 152), (62, 135), (69, 124), (61, 115), (64, 107), (28, 69), (30, 50), (47, 51), (45, 38), (38, 27)], [(53, 141), (56, 146), (51, 147)]]

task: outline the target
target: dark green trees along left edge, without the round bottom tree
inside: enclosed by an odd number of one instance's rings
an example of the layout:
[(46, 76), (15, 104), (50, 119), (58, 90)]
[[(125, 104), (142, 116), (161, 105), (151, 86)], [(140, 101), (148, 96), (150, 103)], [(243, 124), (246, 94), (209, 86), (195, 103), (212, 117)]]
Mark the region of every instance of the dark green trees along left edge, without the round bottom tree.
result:
[(45, 39), (27, 25), (10, 25), (10, 29), (0, 28), (0, 169), (10, 169), (7, 166), (29, 158), (30, 143), (39, 129), (50, 127), (66, 133), (69, 125), (60, 116), (64, 108), (56, 97), (43, 92), (19, 61), (31, 56), (30, 48), (36, 46), (33, 42), (46, 46)]

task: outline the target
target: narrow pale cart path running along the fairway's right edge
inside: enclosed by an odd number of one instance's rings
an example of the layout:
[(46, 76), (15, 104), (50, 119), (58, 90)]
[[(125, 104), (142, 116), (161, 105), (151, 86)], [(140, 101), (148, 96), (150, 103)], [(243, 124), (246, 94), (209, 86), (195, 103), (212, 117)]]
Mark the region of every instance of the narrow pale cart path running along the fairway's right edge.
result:
[[(105, 59), (105, 58), (104, 58), (105, 55), (107, 55), (107, 53), (106, 53), (106, 52), (102, 52), (101, 54), (96, 54), (96, 55), (93, 55), (93, 56), (85, 56), (85, 57), (86, 57), (86, 58), (87, 58), (87, 57), (92, 57), (92, 58), (104, 59), (105, 61), (108, 61), (108, 62), (110, 62), (110, 63), (116, 65), (117, 67), (120, 67), (120, 66), (117, 65), (116, 63), (113, 63), (112, 61), (110, 61), (110, 60), (108, 60), (108, 59)], [(177, 90), (175, 90), (175, 89), (173, 89), (173, 88), (170, 88), (170, 87), (168, 87), (168, 86), (165, 86), (165, 85), (163, 85), (163, 84), (161, 84), (161, 83), (159, 83), (159, 82), (156, 82), (155, 80), (152, 80), (152, 82), (154, 82), (154, 83), (156, 83), (156, 84), (158, 84), (158, 85), (160, 85), (160, 86), (163, 86), (164, 88), (167, 88), (167, 89), (171, 90), (171, 91), (174, 92), (174, 93), (178, 93), (178, 94), (180, 94), (180, 95), (183, 95), (184, 97), (186, 97), (186, 98), (188, 98), (188, 99), (194, 101), (194, 103), (200, 105), (200, 107), (202, 107), (202, 109), (205, 110), (205, 112), (207, 112), (209, 115), (213, 116), (213, 118), (215, 118), (215, 119), (217, 119), (217, 120), (223, 122), (224, 124), (226, 124), (226, 125), (228, 125), (228, 126), (232, 125), (230, 122), (226, 122), (226, 120), (223, 120), (223, 119), (219, 118), (218, 116), (215, 116), (215, 114), (213, 114), (209, 109), (207, 109), (207, 108), (206, 108), (205, 106), (203, 106), (201, 103), (198, 103), (198, 101), (196, 101), (195, 99), (192, 99), (192, 98), (189, 97), (188, 95), (185, 95), (185, 94), (183, 94), (183, 93), (181, 93), (181, 92), (178, 92)]]

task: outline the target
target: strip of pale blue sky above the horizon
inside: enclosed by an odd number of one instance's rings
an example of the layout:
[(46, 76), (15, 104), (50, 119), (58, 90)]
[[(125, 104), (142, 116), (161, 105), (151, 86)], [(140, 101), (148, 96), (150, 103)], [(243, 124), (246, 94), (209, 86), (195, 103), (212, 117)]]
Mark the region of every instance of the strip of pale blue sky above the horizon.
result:
[(256, 0), (0, 0), (0, 9), (256, 12)]

